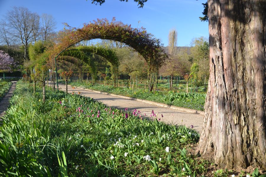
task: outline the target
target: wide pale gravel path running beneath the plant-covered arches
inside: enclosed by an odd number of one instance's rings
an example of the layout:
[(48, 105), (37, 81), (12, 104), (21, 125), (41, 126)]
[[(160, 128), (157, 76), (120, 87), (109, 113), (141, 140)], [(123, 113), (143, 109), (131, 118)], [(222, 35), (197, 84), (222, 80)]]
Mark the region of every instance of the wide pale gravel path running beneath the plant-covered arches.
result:
[[(66, 91), (65, 85), (59, 84), (59, 89), (60, 88), (62, 89), (62, 91)], [(155, 113), (158, 112), (157, 118), (161, 118), (162, 121), (168, 124), (178, 124), (178, 125), (182, 124), (186, 125), (187, 127), (193, 125), (194, 129), (197, 130), (198, 132), (200, 132), (202, 129), (204, 116), (200, 114), (182, 112), (176, 109), (165, 108), (161, 106), (156, 106), (154, 104), (143, 103), (140, 101), (134, 101), (117, 96), (100, 94), (93, 91), (87, 91), (84, 89), (75, 88), (73, 90), (72, 86), (68, 86), (67, 90), (68, 93), (72, 93), (72, 91), (78, 93), (78, 91), (80, 91), (81, 95), (91, 97), (97, 101), (103, 102), (103, 104), (107, 106), (115, 107), (117, 109), (128, 108), (128, 110), (130, 111), (134, 109), (140, 110), (142, 116), (144, 116), (145, 113), (147, 116), (150, 116), (152, 110), (154, 110)], [(161, 117), (161, 114), (163, 114), (163, 118)]]

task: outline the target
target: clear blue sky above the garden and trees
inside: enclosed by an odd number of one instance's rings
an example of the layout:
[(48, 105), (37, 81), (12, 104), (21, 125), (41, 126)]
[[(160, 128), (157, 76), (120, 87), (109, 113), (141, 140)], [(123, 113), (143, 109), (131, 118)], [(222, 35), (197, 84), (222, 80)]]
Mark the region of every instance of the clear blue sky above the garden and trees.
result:
[(146, 28), (147, 32), (168, 45), (169, 30), (178, 32), (178, 46), (190, 46), (194, 37), (208, 37), (208, 23), (201, 22), (203, 6), (206, 0), (148, 0), (143, 8), (138, 8), (133, 0), (120, 2), (106, 0), (104, 4), (91, 4), (90, 0), (0, 0), (0, 19), (12, 6), (24, 6), (38, 14), (53, 15), (56, 30), (64, 28), (63, 22), (72, 27), (82, 27), (94, 19), (116, 17), (117, 21)]

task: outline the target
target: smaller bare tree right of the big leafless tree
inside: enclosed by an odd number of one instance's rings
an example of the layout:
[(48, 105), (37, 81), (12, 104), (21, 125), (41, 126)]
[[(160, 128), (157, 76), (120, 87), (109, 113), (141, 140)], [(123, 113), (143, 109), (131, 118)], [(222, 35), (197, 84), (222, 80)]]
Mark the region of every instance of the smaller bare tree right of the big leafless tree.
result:
[(53, 33), (53, 30), (55, 29), (56, 22), (52, 15), (49, 14), (42, 14), (42, 38), (43, 40), (47, 40), (49, 35)]

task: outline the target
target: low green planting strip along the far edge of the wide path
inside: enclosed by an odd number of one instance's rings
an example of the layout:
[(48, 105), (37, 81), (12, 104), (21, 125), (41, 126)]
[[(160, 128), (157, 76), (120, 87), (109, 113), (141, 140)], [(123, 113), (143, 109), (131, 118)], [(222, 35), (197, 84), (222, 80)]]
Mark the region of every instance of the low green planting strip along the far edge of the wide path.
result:
[[(61, 82), (64, 84), (64, 82)], [(159, 103), (196, 109), (204, 110), (204, 103), (206, 94), (200, 93), (186, 93), (186, 92), (174, 92), (174, 91), (158, 91), (154, 93), (148, 93), (145, 89), (128, 89), (126, 87), (104, 86), (104, 85), (92, 85), (80, 82), (69, 82), (71, 86), (82, 87), (86, 89), (98, 90), (103, 92), (108, 92), (112, 94), (118, 94), (122, 96), (129, 96), (132, 98), (145, 99), (150, 101), (156, 101)]]

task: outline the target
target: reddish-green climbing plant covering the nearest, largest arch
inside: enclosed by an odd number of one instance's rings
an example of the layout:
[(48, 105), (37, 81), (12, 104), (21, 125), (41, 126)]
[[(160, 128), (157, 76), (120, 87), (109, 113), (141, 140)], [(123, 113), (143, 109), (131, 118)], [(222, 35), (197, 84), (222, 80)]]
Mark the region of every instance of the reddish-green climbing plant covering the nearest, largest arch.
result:
[(50, 59), (54, 59), (68, 47), (83, 40), (107, 39), (123, 42), (140, 53), (147, 62), (148, 86), (152, 91), (157, 77), (159, 67), (167, 58), (167, 54), (162, 49), (162, 43), (152, 34), (147, 33), (145, 28), (132, 28), (131, 25), (122, 22), (115, 22), (115, 18), (109, 22), (107, 19), (84, 24), (80, 29), (72, 29), (64, 32), (59, 39), (59, 43), (54, 45), (50, 51)]

